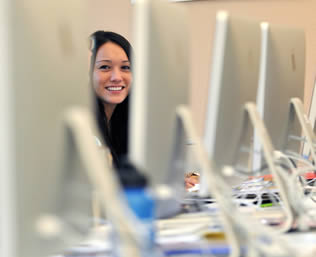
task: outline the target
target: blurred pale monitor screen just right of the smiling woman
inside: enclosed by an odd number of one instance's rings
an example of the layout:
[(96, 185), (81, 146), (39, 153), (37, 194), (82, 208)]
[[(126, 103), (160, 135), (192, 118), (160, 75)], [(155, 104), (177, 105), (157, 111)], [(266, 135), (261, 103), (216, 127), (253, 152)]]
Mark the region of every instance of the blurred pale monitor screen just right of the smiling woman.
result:
[(181, 133), (176, 131), (176, 107), (188, 104), (190, 81), (186, 13), (167, 0), (140, 0), (134, 17), (129, 157), (153, 186), (184, 189), (184, 162), (178, 171), (170, 170), (170, 164), (175, 164), (173, 151), (184, 147), (175, 142)]

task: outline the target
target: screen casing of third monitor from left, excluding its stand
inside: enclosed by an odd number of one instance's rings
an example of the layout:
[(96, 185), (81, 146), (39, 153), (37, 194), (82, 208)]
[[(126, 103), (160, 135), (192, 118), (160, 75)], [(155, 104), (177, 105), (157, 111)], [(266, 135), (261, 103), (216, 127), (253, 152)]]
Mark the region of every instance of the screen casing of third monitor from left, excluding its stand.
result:
[[(225, 11), (218, 12), (204, 145), (219, 168), (235, 165), (240, 147), (243, 107), (247, 102), (256, 101), (259, 60), (259, 22), (230, 16)], [(245, 166), (248, 155), (240, 159)]]

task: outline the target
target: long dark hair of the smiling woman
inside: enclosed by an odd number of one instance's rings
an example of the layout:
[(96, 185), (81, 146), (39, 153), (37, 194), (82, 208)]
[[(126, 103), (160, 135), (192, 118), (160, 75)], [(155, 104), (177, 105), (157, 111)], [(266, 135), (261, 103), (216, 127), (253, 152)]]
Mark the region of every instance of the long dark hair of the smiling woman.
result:
[[(90, 36), (91, 62), (90, 62), (90, 83), (92, 84), (93, 70), (99, 48), (107, 42), (112, 42), (124, 50), (128, 60), (131, 62), (132, 47), (123, 36), (110, 31), (96, 31)], [(114, 166), (120, 166), (120, 160), (126, 156), (128, 150), (128, 96), (118, 104), (108, 121), (105, 115), (101, 99), (95, 95), (95, 112), (97, 124), (104, 143), (109, 147)], [(109, 126), (110, 125), (110, 126)], [(111, 128), (109, 130), (109, 127)]]

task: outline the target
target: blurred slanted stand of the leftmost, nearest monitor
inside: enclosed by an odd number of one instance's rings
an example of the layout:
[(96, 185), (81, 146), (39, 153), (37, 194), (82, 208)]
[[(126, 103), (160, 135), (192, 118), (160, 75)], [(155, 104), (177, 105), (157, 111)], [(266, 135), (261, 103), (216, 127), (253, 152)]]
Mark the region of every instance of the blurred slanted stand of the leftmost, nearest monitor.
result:
[[(93, 136), (98, 135), (93, 115), (84, 108), (72, 108), (64, 116), (66, 149), (63, 169), (74, 167), (74, 159), (82, 161), (91, 184), (100, 197), (100, 204), (118, 234), (119, 256), (141, 257), (141, 245), (135, 227), (139, 222), (128, 209), (115, 171), (97, 147)], [(39, 217), (41, 219), (41, 217)], [(47, 225), (47, 224), (46, 224)], [(49, 225), (49, 224), (48, 224)], [(45, 226), (45, 224), (43, 224)], [(39, 228), (39, 233), (45, 228)]]

